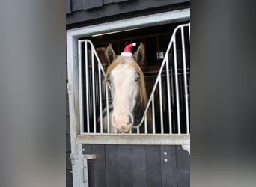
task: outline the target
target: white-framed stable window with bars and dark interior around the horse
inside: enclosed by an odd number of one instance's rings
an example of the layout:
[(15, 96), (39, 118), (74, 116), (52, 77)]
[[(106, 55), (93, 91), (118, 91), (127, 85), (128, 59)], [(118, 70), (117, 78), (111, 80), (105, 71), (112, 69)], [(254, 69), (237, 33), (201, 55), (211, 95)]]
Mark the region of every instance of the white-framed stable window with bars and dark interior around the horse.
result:
[[(174, 19), (175, 13), (177, 17)], [(127, 135), (132, 135), (133, 140), (136, 139), (136, 135), (156, 138), (158, 143), (154, 141), (154, 144), (163, 142), (165, 142), (163, 144), (170, 144), (174, 139), (179, 139), (180, 142), (184, 142), (185, 139), (185, 144), (189, 142), (190, 25), (188, 21), (189, 11), (177, 10), (171, 13), (159, 13), (153, 17), (128, 19), (125, 24), (117, 21), (84, 28), (84, 30), (67, 31), (69, 67), (67, 86), (70, 88), (70, 113), (73, 114), (73, 116), (70, 115), (72, 118), (70, 121), (75, 124), (73, 132), (78, 135), (81, 142), (95, 141), (89, 138), (92, 138), (92, 135), (97, 135), (97, 141), (100, 141), (99, 137), (101, 137), (103, 143), (106, 138), (103, 135), (110, 137), (109, 142), (114, 136)], [(180, 24), (182, 26), (177, 28)], [(168, 27), (171, 27), (170, 31), (165, 29)], [(113, 32), (113, 28), (119, 34), (106, 34)], [(129, 31), (122, 32), (125, 37), (121, 37), (120, 31), (127, 29)], [(150, 33), (150, 29), (155, 32)], [(144, 43), (146, 48), (144, 77), (149, 104), (137, 129), (128, 134), (112, 133), (109, 130), (111, 126), (109, 110), (103, 111), (105, 108), (103, 102), (106, 102), (107, 108), (110, 105), (108, 88), (103, 91), (103, 78), (109, 66), (104, 56), (106, 46), (112, 43), (115, 52), (120, 54), (127, 43), (139, 41)], [(108, 129), (106, 131), (103, 129), (103, 117), (101, 117), (103, 112), (107, 113)], [(147, 131), (147, 124), (150, 123), (151, 118), (148, 117), (148, 112), (152, 114), (152, 132)], [(144, 126), (143, 131), (140, 130), (141, 126)], [(141, 138), (138, 139), (141, 141)], [(124, 139), (119, 139), (118, 142), (127, 143), (122, 140)], [(115, 141), (115, 143), (118, 142)]]

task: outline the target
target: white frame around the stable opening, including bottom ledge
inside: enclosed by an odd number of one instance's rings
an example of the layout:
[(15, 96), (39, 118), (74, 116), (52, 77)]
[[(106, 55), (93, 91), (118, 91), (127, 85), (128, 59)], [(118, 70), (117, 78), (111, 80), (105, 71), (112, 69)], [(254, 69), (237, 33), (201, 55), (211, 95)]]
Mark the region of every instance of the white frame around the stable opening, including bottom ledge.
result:
[(79, 73), (78, 73), (78, 40), (82, 37), (89, 37), (94, 34), (121, 31), (132, 28), (144, 28), (148, 26), (164, 25), (172, 22), (183, 22), (190, 20), (190, 9), (174, 10), (165, 13), (156, 13), (148, 16), (140, 16), (131, 19), (123, 19), (114, 22), (105, 22), (98, 25), (90, 25), (82, 28), (75, 28), (67, 31), (67, 89), (69, 93), (70, 109), (70, 141), (71, 151), (76, 153), (76, 146), (79, 144), (181, 144), (190, 153), (190, 135), (144, 135), (144, 138), (134, 135), (132, 139), (117, 136), (80, 135), (79, 129)]

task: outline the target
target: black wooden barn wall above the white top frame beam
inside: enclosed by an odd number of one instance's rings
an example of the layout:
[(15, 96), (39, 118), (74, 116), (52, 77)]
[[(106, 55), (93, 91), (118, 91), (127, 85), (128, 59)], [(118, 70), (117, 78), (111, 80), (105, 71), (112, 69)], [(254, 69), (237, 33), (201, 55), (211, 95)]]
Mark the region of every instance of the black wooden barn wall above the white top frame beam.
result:
[(189, 7), (188, 0), (66, 0), (67, 29)]

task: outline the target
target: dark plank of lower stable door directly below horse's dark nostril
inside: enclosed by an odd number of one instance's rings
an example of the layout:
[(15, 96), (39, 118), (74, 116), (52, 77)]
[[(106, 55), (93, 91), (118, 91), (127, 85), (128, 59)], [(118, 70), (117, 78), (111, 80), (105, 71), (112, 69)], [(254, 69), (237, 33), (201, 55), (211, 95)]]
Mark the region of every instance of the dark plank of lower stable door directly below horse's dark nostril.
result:
[(118, 145), (119, 186), (132, 186), (132, 147)]

